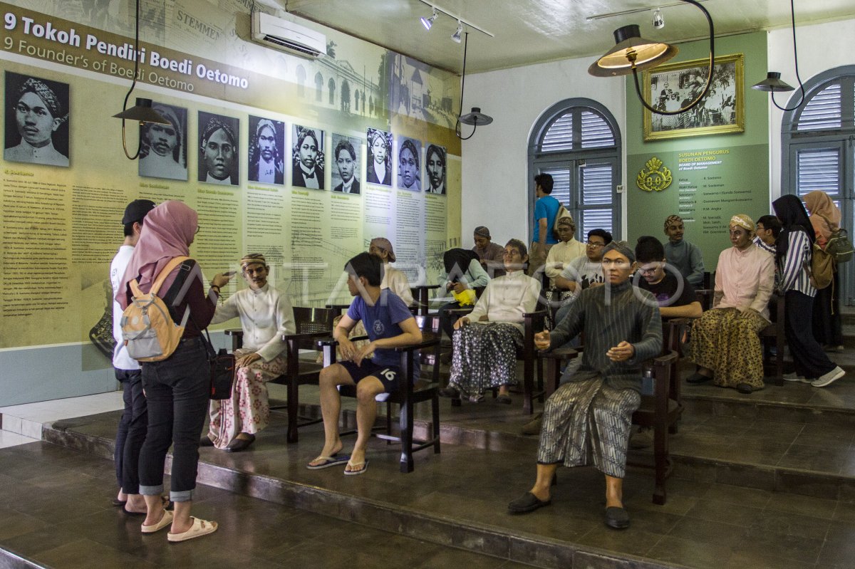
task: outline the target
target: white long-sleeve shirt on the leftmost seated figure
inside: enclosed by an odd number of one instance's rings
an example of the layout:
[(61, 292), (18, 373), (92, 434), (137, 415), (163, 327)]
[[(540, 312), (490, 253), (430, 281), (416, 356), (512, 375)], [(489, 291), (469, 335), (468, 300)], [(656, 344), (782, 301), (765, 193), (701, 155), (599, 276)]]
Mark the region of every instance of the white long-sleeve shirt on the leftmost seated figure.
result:
[(211, 324), (240, 317), (244, 329), (244, 348), (253, 349), (262, 360), (270, 361), (286, 349), (283, 334), (297, 331), (294, 311), (288, 297), (267, 285), (258, 290), (238, 290), (217, 306)]

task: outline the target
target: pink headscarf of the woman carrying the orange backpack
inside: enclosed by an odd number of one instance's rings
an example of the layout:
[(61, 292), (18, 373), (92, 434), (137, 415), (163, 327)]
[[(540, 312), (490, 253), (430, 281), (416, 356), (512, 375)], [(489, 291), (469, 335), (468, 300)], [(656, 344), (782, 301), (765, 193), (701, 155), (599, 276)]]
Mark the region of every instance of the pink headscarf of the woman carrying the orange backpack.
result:
[[(129, 282), (139, 277), (139, 288), (150, 290), (151, 284), (169, 261), (174, 257), (190, 255), (190, 243), (197, 227), (198, 214), (185, 202), (176, 200), (162, 202), (145, 216), (139, 241), (133, 248), (131, 260), (115, 296), (121, 308), (127, 308)], [(174, 277), (166, 279), (162, 290), (168, 290), (173, 280)]]

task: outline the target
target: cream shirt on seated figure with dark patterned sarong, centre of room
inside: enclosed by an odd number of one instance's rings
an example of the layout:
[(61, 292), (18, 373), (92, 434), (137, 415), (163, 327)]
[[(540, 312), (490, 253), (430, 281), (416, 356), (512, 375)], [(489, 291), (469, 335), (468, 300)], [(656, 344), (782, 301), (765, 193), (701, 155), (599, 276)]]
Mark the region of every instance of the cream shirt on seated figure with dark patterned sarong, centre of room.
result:
[(537, 309), (539, 296), (540, 281), (522, 271), (511, 271), (487, 283), (467, 318), (476, 323), (486, 316), (490, 322), (506, 322), (522, 332), (522, 315)]

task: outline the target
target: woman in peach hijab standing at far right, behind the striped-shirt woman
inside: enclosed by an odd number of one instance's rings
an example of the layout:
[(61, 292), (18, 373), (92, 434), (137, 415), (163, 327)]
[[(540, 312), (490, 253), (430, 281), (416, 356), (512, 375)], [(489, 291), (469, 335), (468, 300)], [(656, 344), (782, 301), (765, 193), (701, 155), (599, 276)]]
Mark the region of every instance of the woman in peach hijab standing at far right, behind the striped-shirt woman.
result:
[[(817, 243), (825, 248), (831, 233), (840, 227), (840, 209), (824, 191), (805, 195), (805, 206), (811, 214), (811, 226)], [(836, 267), (831, 285), (817, 291), (813, 300), (813, 337), (828, 351), (843, 351), (843, 329), (840, 322), (840, 282)]]

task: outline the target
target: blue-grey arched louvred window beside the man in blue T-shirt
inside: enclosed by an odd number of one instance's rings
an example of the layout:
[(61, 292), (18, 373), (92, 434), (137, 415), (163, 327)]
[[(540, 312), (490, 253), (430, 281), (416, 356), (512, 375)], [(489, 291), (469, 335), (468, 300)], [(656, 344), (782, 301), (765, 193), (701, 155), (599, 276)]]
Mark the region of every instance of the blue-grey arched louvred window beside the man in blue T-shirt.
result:
[(576, 238), (600, 228), (615, 238), (621, 227), (621, 136), (615, 118), (600, 103), (573, 98), (552, 105), (534, 123), (528, 141), (528, 220), (534, 221), (534, 176), (551, 174), (552, 197), (576, 221)]

